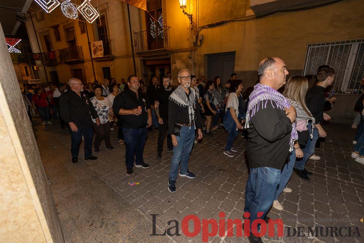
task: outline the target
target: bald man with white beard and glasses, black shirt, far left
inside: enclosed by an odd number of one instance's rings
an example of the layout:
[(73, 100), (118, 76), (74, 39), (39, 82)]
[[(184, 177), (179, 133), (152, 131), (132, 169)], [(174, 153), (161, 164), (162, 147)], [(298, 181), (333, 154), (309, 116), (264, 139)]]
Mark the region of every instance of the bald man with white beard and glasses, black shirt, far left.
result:
[(99, 115), (96, 113), (90, 99), (84, 93), (83, 84), (79, 79), (71, 78), (68, 81), (68, 85), (70, 90), (62, 93), (59, 97), (59, 107), (63, 121), (67, 122), (70, 127), (72, 162), (78, 162), (82, 135), (85, 140), (84, 159), (97, 160), (97, 157), (92, 156), (92, 128), (94, 124), (91, 117), (96, 119), (96, 124), (99, 126)]

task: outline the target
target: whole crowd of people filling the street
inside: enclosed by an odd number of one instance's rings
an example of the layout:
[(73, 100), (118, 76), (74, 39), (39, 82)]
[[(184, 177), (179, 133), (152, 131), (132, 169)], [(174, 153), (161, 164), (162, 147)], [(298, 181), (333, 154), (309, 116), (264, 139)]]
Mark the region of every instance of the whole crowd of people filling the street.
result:
[[(104, 79), (84, 85), (71, 78), (67, 85), (52, 83), (42, 87), (24, 86), (23, 98), (29, 118), (37, 110), (42, 125), (59, 118), (62, 128), (68, 126), (71, 133), (72, 162), (78, 162), (79, 147), (84, 139), (84, 159), (96, 160), (92, 155), (100, 151), (104, 140), (107, 149), (111, 145), (112, 124), (118, 127), (118, 141), (124, 144), (126, 174), (133, 175), (134, 166), (146, 169), (150, 165), (143, 160), (147, 134), (158, 130), (157, 158), (162, 159), (163, 144), (167, 137), (167, 152), (173, 153), (170, 162), (168, 189), (176, 192), (179, 176), (195, 178), (188, 169), (193, 145), (203, 136), (212, 137), (225, 129), (227, 140), (223, 154), (234, 157), (238, 152), (234, 140), (241, 136), (247, 140), (245, 149), (249, 176), (245, 189), (245, 212), (250, 222), (268, 220), (271, 207), (282, 210), (278, 201), (282, 192), (292, 192), (287, 187), (295, 172), (304, 180), (310, 180), (312, 172), (305, 168), (314, 155), (318, 138), (327, 136), (322, 123), (331, 119), (324, 113), (336, 98), (329, 96), (327, 87), (335, 78), (335, 70), (320, 66), (316, 75), (293, 76), (286, 81), (289, 72), (280, 58), (266, 58), (259, 64), (258, 83), (244, 89), (244, 82), (235, 73), (222, 82), (221, 77), (197, 78), (188, 69), (178, 73), (178, 86), (171, 86), (171, 73), (166, 77), (151, 77), (146, 88), (137, 75), (117, 84), (115, 79)], [(285, 86), (284, 86), (285, 85)], [(243, 92), (244, 90), (244, 92)], [(352, 157), (364, 164), (363, 98), (359, 101), (358, 135)], [(31, 102), (30, 102), (31, 101)], [(148, 131), (149, 130), (149, 131)], [(93, 132), (96, 133), (92, 142)], [(318, 146), (319, 148), (319, 146)], [(258, 212), (263, 212), (259, 217)], [(251, 223), (250, 223), (251, 224)], [(252, 233), (259, 231), (249, 225)], [(251, 234), (250, 242), (262, 242)]]

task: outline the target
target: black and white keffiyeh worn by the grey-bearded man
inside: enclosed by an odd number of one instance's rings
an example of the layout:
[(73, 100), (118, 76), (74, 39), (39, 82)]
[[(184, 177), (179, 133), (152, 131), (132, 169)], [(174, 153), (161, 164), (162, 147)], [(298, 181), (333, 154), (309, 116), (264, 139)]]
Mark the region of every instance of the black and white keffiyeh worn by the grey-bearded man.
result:
[[(182, 85), (179, 85), (177, 89), (175, 89), (172, 94), (169, 96), (169, 99), (175, 102), (179, 106), (187, 106), (188, 114), (190, 118), (190, 124), (195, 122), (195, 99), (196, 92), (193, 89), (190, 89), (189, 99), (187, 99), (187, 94), (183, 89)], [(191, 126), (190, 126), (191, 129)], [(196, 127), (195, 127), (196, 129)]]

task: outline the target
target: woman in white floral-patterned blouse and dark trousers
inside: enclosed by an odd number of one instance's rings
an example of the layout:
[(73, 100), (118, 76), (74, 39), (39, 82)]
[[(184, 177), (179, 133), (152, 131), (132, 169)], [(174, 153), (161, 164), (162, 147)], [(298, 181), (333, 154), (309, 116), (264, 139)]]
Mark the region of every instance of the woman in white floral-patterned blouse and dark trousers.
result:
[(94, 149), (95, 152), (99, 152), (101, 141), (105, 138), (105, 145), (108, 149), (114, 149), (113, 146), (111, 146), (110, 142), (110, 126), (111, 123), (109, 119), (107, 118), (107, 115), (109, 113), (112, 114), (112, 106), (110, 103), (110, 100), (108, 98), (105, 98), (101, 96), (102, 94), (102, 87), (96, 86), (94, 89), (95, 97), (92, 97), (90, 101), (95, 107), (95, 110), (100, 118), (100, 125), (96, 125), (96, 120), (92, 118), (92, 121), (94, 122), (94, 130), (96, 133), (95, 142), (94, 142)]

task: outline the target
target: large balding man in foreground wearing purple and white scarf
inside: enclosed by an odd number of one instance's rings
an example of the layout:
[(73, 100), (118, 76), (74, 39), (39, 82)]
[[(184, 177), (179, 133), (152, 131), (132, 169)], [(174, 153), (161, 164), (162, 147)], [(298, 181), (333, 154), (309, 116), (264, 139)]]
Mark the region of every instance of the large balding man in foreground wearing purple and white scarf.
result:
[[(296, 110), (277, 90), (286, 83), (288, 71), (280, 58), (266, 58), (258, 67), (259, 83), (250, 94), (246, 127), (246, 156), (249, 177), (245, 188), (244, 216), (250, 214), (249, 241), (262, 242), (256, 219), (268, 220), (266, 214), (276, 196), (281, 170), (297, 140)], [(259, 109), (257, 109), (259, 107)], [(249, 214), (248, 214), (249, 212)]]

